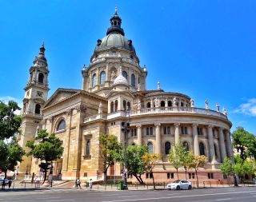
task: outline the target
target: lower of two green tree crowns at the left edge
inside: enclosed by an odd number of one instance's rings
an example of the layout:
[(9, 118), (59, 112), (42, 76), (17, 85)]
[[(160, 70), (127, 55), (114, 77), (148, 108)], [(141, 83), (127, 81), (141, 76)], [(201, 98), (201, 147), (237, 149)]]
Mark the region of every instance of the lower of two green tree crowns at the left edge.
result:
[(23, 155), (25, 155), (25, 151), (18, 145), (15, 137), (7, 143), (0, 141), (0, 168), (5, 175), (7, 170), (14, 171), (18, 161), (22, 162)]

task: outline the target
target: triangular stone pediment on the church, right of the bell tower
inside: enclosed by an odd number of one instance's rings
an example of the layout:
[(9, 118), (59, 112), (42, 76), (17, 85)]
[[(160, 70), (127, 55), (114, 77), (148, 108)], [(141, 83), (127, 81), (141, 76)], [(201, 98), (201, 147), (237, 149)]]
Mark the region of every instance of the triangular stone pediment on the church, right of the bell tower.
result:
[(75, 93), (79, 93), (80, 90), (78, 89), (57, 89), (54, 94), (46, 101), (44, 108), (54, 105), (55, 103), (66, 99), (74, 95)]

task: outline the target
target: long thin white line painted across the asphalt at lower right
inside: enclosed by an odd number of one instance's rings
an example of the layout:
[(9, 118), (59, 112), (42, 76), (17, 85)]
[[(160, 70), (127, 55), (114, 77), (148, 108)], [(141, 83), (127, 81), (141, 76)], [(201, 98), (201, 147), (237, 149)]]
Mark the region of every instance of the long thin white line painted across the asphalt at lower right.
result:
[[(256, 192), (256, 191), (251, 191)], [(138, 201), (138, 200), (161, 200), (171, 198), (185, 198), (185, 197), (196, 197), (196, 196), (216, 196), (216, 195), (228, 195), (238, 193), (250, 193), (250, 192), (225, 192), (225, 193), (210, 193), (210, 194), (197, 194), (197, 195), (186, 195), (186, 196), (170, 196), (170, 197), (158, 197), (158, 198), (143, 198), (143, 199), (126, 199), (126, 200), (102, 200), (102, 202), (122, 202), (122, 201)]]

